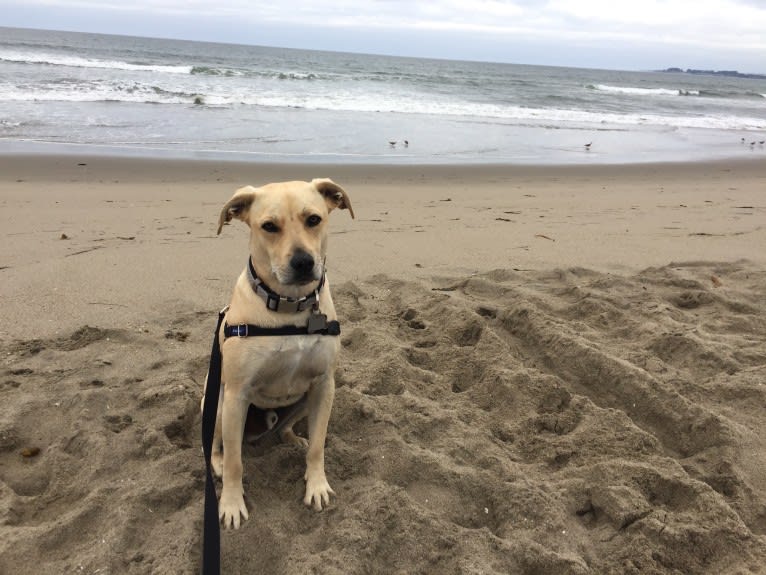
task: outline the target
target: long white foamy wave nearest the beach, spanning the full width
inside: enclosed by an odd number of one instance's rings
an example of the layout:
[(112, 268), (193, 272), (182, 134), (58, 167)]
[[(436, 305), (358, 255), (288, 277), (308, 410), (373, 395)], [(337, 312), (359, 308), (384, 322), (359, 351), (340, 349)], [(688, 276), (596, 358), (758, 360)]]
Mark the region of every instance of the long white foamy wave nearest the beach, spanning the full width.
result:
[[(199, 91), (195, 91), (199, 88)], [(199, 105), (203, 108), (263, 107), (271, 109), (325, 110), (349, 113), (394, 113), (451, 118), (489, 118), (511, 124), (589, 126), (671, 126), (729, 130), (766, 129), (757, 114), (731, 112), (698, 114), (631, 111), (596, 112), (562, 98), (543, 99), (548, 106), (482, 103), (443, 95), (413, 97), (408, 92), (355, 90), (289, 90), (279, 87), (233, 89), (228, 83), (199, 86), (183, 80), (160, 85), (131, 81), (74, 81), (52, 79), (34, 86), (0, 84), (0, 101), (17, 102), (124, 102), (131, 104)]]

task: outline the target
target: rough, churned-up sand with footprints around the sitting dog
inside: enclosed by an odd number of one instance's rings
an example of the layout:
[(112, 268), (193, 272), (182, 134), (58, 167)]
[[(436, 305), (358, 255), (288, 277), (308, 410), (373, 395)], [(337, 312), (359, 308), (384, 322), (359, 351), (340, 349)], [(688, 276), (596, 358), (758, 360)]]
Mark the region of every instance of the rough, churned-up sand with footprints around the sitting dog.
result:
[[(766, 272), (334, 289), (338, 497), (304, 508), (301, 450), (247, 447), (223, 572), (761, 572)], [(3, 344), (0, 571), (197, 572), (215, 315)]]

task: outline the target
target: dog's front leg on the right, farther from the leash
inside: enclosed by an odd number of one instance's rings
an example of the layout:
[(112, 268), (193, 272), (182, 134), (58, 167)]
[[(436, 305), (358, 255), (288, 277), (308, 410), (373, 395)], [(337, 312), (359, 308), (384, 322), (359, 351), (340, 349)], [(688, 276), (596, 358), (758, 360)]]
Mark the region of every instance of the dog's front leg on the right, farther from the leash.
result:
[(322, 510), (322, 505), (329, 505), (330, 495), (335, 495), (324, 473), (324, 444), (334, 397), (335, 379), (332, 375), (316, 383), (309, 391), (309, 448), (306, 453), (306, 496), (303, 503), (317, 511)]

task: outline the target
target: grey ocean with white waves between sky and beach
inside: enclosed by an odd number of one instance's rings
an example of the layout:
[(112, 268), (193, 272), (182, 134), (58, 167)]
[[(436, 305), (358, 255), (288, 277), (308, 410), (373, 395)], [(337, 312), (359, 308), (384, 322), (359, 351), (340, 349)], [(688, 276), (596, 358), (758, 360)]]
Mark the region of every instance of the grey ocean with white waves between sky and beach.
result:
[(0, 153), (625, 163), (764, 139), (763, 79), (0, 28)]

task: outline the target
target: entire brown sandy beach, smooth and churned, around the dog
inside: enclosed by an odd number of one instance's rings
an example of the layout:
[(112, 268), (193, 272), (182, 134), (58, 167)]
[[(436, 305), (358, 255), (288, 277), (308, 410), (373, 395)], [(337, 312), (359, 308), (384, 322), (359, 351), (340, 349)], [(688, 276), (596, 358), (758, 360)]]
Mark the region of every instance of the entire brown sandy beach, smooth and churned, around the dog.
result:
[(0, 157), (0, 572), (195, 573), (245, 184), (330, 177), (329, 509), (244, 449), (224, 573), (763, 573), (766, 164)]

